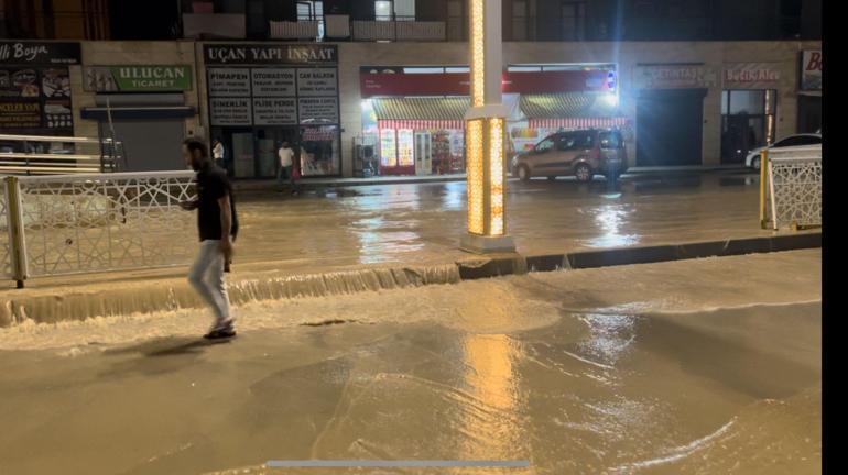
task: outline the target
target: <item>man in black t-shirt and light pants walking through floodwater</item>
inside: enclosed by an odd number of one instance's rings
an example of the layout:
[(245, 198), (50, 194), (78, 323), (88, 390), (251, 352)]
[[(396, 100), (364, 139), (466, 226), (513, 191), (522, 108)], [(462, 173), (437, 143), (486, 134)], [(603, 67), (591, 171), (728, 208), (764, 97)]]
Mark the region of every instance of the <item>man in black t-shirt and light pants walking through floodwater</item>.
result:
[(209, 159), (206, 144), (189, 137), (183, 142), (183, 158), (197, 173), (197, 198), (180, 205), (197, 210), (200, 251), (188, 273), (188, 281), (215, 312), (215, 322), (204, 338), (236, 335), (224, 273), (232, 257), (232, 241), (239, 229), (232, 187), (227, 174)]

